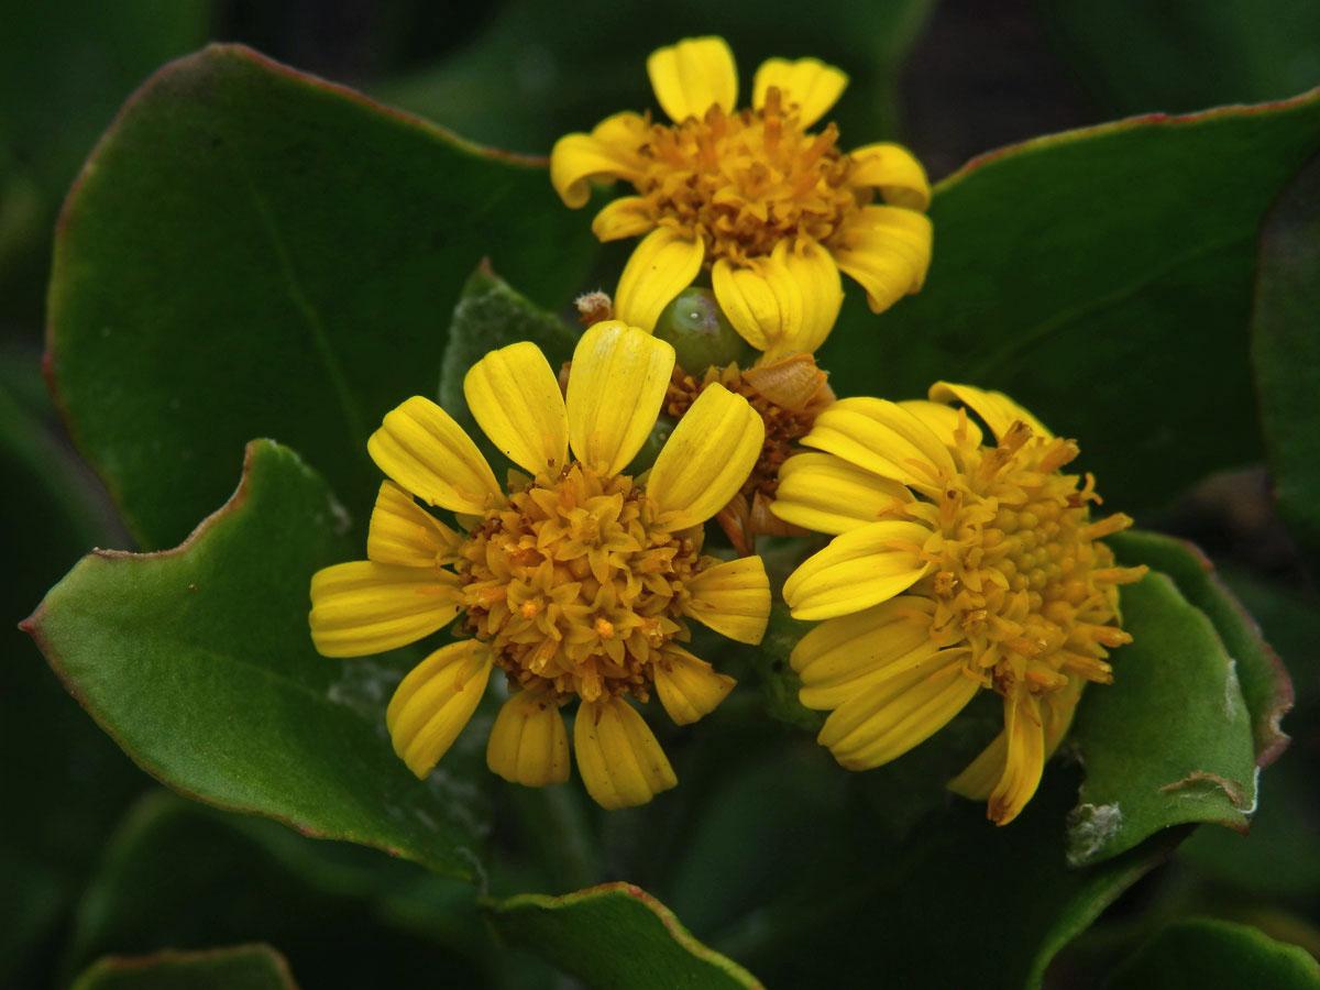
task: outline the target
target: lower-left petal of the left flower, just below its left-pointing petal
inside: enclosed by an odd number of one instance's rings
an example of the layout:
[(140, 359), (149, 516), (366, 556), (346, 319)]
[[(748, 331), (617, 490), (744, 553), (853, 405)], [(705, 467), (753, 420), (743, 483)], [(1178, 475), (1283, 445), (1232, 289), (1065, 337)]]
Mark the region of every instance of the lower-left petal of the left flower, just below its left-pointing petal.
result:
[(486, 693), (491, 653), (474, 639), (450, 643), (404, 677), (385, 710), (395, 752), (418, 777), (440, 763)]

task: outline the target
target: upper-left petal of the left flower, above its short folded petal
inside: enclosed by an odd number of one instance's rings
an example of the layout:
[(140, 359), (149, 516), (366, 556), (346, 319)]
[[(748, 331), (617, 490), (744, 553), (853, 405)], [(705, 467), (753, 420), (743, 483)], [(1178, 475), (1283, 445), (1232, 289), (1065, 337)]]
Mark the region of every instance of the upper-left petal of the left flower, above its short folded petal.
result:
[(381, 471), (428, 506), (482, 513), (504, 503), (490, 465), (463, 428), (429, 399), (413, 396), (385, 413), (367, 440)]

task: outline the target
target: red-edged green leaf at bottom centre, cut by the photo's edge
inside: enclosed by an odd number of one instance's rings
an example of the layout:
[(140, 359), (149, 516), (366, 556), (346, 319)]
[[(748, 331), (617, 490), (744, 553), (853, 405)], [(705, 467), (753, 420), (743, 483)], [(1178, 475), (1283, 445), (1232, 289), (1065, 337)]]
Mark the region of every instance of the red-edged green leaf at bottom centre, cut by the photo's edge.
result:
[(487, 899), (483, 908), (511, 942), (540, 952), (593, 990), (760, 986), (631, 883), (606, 883), (562, 898)]

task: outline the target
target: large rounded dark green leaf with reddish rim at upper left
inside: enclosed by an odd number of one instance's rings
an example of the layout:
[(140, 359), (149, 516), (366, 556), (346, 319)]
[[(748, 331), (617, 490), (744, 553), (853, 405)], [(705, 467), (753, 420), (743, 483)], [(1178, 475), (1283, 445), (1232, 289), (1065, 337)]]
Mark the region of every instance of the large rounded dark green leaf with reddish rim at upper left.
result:
[(149, 548), (223, 499), (257, 436), (366, 519), (366, 437), (433, 392), (465, 273), (488, 255), (560, 305), (595, 249), (541, 162), (213, 46), (137, 92), (65, 207), (51, 379)]

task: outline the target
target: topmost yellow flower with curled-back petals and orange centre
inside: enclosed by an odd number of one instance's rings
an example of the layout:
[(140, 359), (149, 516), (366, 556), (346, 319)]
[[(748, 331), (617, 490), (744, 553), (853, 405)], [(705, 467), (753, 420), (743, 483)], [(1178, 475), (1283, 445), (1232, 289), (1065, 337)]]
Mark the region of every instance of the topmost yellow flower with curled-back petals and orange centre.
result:
[(636, 189), (591, 224), (601, 240), (645, 235), (619, 279), (620, 319), (655, 329), (706, 269), (734, 329), (779, 356), (824, 342), (843, 297), (840, 271), (876, 313), (921, 288), (931, 260), (921, 165), (895, 144), (845, 154), (834, 124), (807, 129), (843, 92), (843, 73), (771, 58), (756, 70), (752, 108), (738, 112), (738, 73), (721, 38), (659, 49), (647, 73), (673, 124), (616, 114), (550, 153), (550, 181), (570, 207), (586, 205), (590, 180)]

